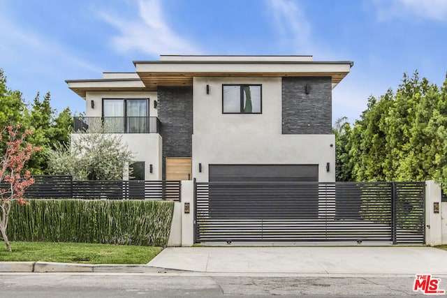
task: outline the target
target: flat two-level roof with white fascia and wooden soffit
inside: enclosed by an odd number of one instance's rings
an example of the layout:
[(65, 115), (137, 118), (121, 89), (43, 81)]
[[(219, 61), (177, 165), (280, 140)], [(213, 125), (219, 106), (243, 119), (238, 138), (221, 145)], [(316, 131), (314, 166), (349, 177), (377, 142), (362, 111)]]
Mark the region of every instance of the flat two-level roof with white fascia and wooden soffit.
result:
[(331, 77), (332, 88), (348, 75), (353, 61), (313, 61), (312, 56), (161, 55), (133, 61), (135, 73), (103, 73), (102, 79), (66, 80), (85, 98), (87, 91), (156, 91), (191, 87), (193, 77)]

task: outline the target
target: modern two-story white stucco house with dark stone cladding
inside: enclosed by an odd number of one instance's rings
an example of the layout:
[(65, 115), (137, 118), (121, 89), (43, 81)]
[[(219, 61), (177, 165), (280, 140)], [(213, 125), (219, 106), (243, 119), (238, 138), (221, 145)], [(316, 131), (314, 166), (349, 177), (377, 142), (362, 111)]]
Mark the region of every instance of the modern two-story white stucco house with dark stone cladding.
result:
[(332, 89), (351, 61), (161, 56), (135, 73), (67, 80), (86, 117), (110, 123), (145, 180), (335, 181)]

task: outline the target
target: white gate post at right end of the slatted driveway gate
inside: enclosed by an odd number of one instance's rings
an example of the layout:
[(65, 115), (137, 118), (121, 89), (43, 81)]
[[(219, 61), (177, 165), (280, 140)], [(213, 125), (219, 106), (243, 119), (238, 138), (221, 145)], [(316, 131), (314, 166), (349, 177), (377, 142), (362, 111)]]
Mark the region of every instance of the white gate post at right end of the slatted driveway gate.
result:
[(425, 181), (425, 244), (442, 244), (441, 187), (433, 180)]

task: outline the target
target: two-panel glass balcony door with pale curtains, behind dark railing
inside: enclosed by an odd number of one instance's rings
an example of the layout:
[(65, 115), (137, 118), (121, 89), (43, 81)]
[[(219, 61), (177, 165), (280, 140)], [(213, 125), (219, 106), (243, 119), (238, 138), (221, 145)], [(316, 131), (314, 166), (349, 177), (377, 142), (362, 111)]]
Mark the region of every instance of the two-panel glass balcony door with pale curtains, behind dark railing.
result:
[(103, 99), (104, 124), (114, 133), (148, 133), (147, 99)]

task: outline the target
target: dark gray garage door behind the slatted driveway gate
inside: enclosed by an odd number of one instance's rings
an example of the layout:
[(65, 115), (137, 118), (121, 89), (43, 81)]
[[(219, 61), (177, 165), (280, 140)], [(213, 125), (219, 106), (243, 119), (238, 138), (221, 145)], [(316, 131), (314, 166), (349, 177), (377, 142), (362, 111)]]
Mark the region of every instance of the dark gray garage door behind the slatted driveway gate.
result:
[[(313, 184), (302, 185), (297, 192), (296, 183), (307, 182)], [(210, 165), (210, 214), (214, 218), (313, 218), (318, 216), (315, 182), (318, 165)]]

